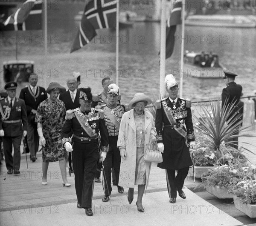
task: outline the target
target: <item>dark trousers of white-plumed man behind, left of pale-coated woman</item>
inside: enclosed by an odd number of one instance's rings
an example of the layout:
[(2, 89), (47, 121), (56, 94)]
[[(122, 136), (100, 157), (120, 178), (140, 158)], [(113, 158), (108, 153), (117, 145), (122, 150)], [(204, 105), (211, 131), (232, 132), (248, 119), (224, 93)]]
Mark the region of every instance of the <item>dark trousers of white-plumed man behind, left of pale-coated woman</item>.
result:
[[(120, 164), (121, 164), (121, 155), (119, 149), (116, 147), (118, 136), (109, 136), (109, 150), (107, 153), (107, 157), (103, 162), (105, 175), (103, 172), (103, 180), (102, 186), (105, 195), (111, 195), (112, 187), (111, 187), (111, 171), (112, 167), (114, 168), (114, 176), (115, 182), (118, 184), (119, 181), (119, 172), (120, 172)], [(109, 190), (109, 193), (108, 193)]]

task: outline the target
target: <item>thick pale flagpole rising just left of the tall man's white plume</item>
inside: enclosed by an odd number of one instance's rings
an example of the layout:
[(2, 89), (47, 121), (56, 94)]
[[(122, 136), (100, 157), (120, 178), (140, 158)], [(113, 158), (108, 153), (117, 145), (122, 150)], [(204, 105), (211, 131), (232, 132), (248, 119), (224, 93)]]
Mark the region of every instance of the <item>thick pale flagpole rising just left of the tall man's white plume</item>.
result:
[(166, 0), (161, 1), (161, 46), (160, 46), (160, 93), (159, 97), (162, 98), (165, 87), (164, 79), (166, 75)]

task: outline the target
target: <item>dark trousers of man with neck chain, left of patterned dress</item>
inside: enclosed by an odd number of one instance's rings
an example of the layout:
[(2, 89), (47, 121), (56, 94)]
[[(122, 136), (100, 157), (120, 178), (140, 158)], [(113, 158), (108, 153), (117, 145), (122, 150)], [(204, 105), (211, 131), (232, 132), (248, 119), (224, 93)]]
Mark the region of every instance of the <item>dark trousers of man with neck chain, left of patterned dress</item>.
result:
[(39, 146), (39, 136), (37, 132), (37, 124), (28, 123), (28, 134), (27, 134), (27, 142), (29, 146), (30, 157), (36, 156), (36, 152), (38, 151)]

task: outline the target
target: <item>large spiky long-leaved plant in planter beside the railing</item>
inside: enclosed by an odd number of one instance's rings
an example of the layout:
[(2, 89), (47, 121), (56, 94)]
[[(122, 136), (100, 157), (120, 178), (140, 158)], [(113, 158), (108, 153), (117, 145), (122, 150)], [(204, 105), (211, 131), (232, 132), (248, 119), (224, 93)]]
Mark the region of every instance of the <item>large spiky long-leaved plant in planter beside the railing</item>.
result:
[[(225, 143), (225, 145), (233, 144), (238, 146), (235, 141), (229, 139), (242, 136), (252, 137), (252, 135), (241, 134), (241, 132), (248, 129), (248, 127), (241, 127), (241, 121), (237, 120), (242, 117), (242, 114), (232, 114), (236, 107), (235, 102), (229, 104), (225, 102), (223, 107), (221, 107), (220, 100), (214, 102), (209, 100), (209, 102), (211, 111), (209, 112), (206, 107), (203, 107), (204, 116), (201, 114), (199, 114), (199, 117), (194, 116), (196, 121), (194, 127), (201, 132), (201, 134), (209, 137), (207, 142), (209, 142), (219, 154), (224, 156), (224, 153), (221, 151), (222, 143)], [(237, 132), (239, 132), (239, 134), (237, 134)], [(253, 153), (248, 149), (246, 150)]]

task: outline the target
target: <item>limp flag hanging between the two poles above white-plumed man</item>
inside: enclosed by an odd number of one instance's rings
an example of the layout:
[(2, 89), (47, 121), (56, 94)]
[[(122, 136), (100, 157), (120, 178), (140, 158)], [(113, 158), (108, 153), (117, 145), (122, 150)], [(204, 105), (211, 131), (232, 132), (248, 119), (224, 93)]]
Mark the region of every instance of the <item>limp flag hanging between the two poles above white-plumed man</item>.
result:
[(181, 0), (174, 3), (173, 9), (171, 11), (171, 16), (167, 21), (166, 27), (166, 59), (172, 56), (175, 41), (175, 31), (176, 25), (181, 24), (181, 10), (182, 3)]

